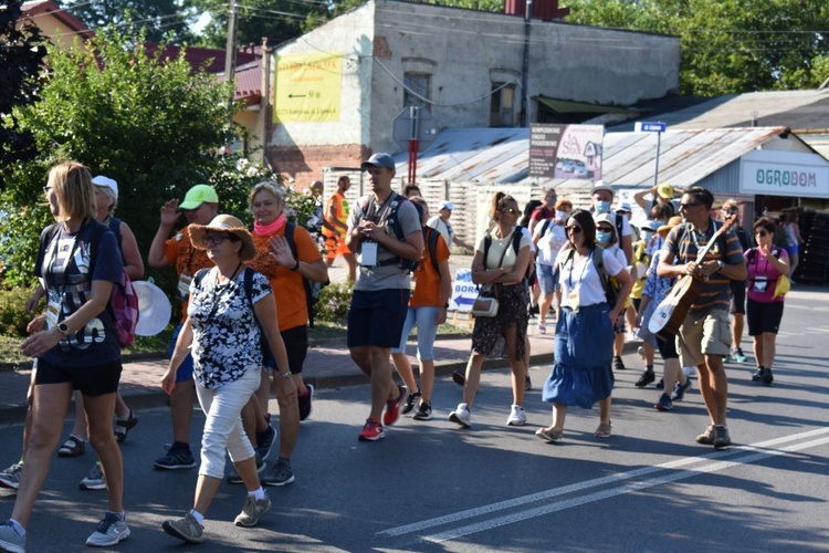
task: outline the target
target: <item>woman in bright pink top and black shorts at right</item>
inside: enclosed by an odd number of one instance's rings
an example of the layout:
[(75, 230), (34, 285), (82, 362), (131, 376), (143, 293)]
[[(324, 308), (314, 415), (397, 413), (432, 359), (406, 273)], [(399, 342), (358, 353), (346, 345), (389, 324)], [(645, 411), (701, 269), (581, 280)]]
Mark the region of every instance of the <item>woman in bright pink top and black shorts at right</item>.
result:
[(772, 243), (775, 223), (766, 218), (754, 223), (757, 247), (745, 252), (748, 279), (748, 335), (754, 340), (754, 358), (757, 371), (752, 380), (766, 386), (774, 380), (772, 365), (775, 361), (775, 341), (783, 319), (784, 296), (775, 296), (775, 286), (781, 274), (789, 274), (788, 253)]

